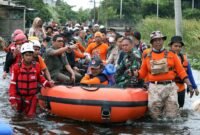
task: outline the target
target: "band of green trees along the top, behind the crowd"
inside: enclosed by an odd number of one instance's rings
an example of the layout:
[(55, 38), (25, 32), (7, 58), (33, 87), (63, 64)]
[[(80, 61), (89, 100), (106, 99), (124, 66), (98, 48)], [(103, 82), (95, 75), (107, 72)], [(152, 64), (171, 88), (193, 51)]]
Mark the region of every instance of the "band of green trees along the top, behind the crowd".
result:
[[(43, 0), (12, 0), (27, 8), (35, 9), (34, 12), (27, 11), (27, 22), (31, 22), (34, 17), (39, 16), (44, 21), (55, 20), (64, 24), (68, 20), (77, 22), (91, 21), (95, 17), (95, 22), (106, 23), (109, 20), (120, 19), (121, 0), (101, 0), (100, 7), (95, 9), (72, 10), (64, 0), (57, 0), (56, 7), (49, 7)], [(194, 10), (192, 0), (182, 0), (183, 17), (188, 19), (199, 19), (200, 1), (195, 0)], [(142, 18), (155, 16), (157, 13), (157, 0), (123, 0), (121, 21), (138, 23)], [(159, 17), (174, 18), (174, 0), (159, 0)]]

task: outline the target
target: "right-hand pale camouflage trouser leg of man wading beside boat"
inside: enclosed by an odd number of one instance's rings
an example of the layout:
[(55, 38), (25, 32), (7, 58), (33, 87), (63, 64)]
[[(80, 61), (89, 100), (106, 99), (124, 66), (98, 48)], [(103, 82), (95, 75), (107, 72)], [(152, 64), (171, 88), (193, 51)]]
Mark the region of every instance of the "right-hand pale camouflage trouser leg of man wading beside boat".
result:
[(164, 113), (165, 116), (168, 118), (176, 118), (178, 116), (178, 98), (177, 98), (177, 90), (178, 87), (175, 83), (172, 83), (171, 85), (168, 85), (166, 87), (170, 93), (169, 96), (165, 100), (165, 107), (164, 107)]

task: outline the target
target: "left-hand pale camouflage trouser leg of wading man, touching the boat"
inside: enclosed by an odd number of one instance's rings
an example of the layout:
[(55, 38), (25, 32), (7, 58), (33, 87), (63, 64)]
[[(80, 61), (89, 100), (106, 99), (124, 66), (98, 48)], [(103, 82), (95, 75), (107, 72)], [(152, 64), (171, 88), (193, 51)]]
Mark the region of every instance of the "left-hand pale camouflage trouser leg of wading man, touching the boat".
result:
[(148, 109), (149, 114), (153, 119), (158, 119), (162, 116), (162, 103), (161, 90), (156, 84), (149, 84), (148, 89)]

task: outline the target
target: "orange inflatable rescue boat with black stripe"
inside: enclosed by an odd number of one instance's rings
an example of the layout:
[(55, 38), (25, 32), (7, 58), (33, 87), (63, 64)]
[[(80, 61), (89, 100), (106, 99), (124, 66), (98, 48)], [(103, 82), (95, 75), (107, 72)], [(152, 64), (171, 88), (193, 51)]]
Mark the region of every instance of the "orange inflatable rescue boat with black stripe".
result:
[(39, 104), (52, 114), (97, 123), (125, 122), (144, 116), (147, 91), (141, 88), (99, 88), (88, 91), (80, 86), (58, 85), (43, 88)]

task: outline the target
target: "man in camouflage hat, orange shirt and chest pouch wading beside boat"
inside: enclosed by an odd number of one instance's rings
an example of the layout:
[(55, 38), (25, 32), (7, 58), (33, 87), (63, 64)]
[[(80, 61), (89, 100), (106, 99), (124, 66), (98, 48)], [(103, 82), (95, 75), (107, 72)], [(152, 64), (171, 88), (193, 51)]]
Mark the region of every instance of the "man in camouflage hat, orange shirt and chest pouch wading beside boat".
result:
[(148, 109), (153, 119), (176, 118), (178, 116), (178, 98), (174, 80), (178, 75), (193, 94), (192, 85), (187, 77), (178, 56), (164, 47), (164, 36), (160, 31), (154, 31), (150, 35), (152, 51), (142, 61), (139, 71), (134, 75), (139, 78), (148, 77)]

